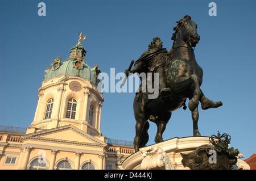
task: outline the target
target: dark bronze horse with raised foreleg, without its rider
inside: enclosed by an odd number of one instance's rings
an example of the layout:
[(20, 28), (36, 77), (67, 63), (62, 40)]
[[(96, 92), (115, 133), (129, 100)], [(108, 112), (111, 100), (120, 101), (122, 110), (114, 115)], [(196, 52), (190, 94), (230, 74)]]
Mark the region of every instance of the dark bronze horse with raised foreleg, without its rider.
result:
[(221, 102), (207, 99), (200, 89), (203, 82), (203, 69), (197, 64), (193, 51), (193, 47), (196, 47), (200, 40), (197, 25), (190, 16), (184, 16), (177, 22), (174, 31), (172, 36), (174, 44), (167, 55), (164, 67), (167, 86), (171, 89), (170, 94), (159, 95), (156, 99), (149, 99), (145, 104), (139, 102), (137, 96), (134, 99), (134, 116), (137, 121), (134, 138), (135, 151), (148, 142), (149, 123), (147, 120), (149, 119), (157, 125), (155, 142), (163, 141), (162, 135), (171, 118), (172, 111), (184, 105), (187, 98), (189, 99), (189, 110), (192, 112), (193, 136), (200, 136), (197, 126), (199, 102), (201, 102), (203, 110), (222, 106)]

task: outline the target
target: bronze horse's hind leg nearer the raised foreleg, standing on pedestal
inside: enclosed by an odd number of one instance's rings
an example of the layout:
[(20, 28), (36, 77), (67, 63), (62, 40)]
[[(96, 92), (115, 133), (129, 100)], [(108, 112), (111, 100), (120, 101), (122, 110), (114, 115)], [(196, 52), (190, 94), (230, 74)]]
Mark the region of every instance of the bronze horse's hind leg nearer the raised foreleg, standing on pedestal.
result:
[(169, 119), (171, 118), (172, 113), (168, 112), (164, 116), (158, 117), (158, 120), (155, 121), (158, 131), (156, 132), (155, 142), (162, 142), (163, 141), (163, 132), (166, 129), (166, 124), (168, 123)]

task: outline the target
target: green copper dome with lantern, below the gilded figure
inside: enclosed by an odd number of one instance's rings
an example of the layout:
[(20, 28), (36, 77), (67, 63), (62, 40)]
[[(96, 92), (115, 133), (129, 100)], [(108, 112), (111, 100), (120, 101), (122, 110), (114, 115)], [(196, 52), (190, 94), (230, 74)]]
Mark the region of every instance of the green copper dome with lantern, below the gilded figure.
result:
[(98, 84), (97, 76), (100, 73), (100, 69), (95, 65), (90, 68), (84, 60), (86, 50), (81, 45), (76, 45), (71, 48), (71, 55), (67, 61), (61, 62), (61, 58), (57, 57), (52, 61), (51, 68), (48, 68), (44, 72), (44, 81), (48, 79), (58, 77), (61, 75), (76, 76), (84, 79), (89, 79)]

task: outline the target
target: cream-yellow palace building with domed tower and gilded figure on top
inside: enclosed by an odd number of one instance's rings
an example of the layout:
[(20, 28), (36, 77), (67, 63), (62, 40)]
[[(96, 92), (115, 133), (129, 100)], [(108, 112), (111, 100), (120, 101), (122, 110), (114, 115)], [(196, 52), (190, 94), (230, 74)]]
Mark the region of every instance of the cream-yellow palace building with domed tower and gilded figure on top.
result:
[(32, 123), (0, 126), (0, 169), (118, 169), (134, 153), (131, 142), (101, 134), (100, 69), (86, 64), (83, 39), (45, 70)]

